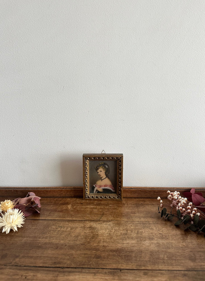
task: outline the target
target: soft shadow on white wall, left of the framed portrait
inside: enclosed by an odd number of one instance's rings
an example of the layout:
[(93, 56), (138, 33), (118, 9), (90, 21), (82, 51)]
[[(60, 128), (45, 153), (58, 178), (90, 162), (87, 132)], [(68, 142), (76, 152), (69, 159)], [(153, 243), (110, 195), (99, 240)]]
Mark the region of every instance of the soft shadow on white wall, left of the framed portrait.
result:
[(62, 186), (83, 186), (83, 155), (63, 156), (60, 171)]

